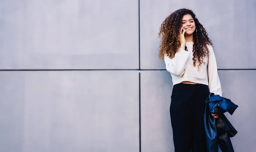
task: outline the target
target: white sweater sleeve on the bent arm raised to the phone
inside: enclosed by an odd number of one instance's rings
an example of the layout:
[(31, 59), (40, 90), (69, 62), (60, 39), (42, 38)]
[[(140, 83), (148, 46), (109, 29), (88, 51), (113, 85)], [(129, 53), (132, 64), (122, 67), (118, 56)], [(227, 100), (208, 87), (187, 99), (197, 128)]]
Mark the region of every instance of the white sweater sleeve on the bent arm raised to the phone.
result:
[(178, 52), (176, 52), (175, 57), (172, 59), (167, 56), (167, 54), (164, 54), (166, 70), (173, 75), (181, 77), (184, 74), (189, 55), (190, 52), (187, 52), (183, 49), (180, 49)]

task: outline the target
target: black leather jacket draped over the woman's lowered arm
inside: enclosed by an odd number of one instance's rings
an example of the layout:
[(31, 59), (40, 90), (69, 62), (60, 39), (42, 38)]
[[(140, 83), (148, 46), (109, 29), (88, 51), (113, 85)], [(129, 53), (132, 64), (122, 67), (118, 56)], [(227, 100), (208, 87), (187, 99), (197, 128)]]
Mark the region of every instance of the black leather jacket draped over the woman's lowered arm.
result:
[[(230, 99), (210, 93), (205, 100), (204, 129), (206, 132), (207, 152), (218, 152), (218, 145), (222, 152), (234, 152), (230, 137), (236, 135), (236, 129), (227, 120), (224, 113), (233, 115), (238, 106)], [(215, 119), (211, 113), (219, 115)]]

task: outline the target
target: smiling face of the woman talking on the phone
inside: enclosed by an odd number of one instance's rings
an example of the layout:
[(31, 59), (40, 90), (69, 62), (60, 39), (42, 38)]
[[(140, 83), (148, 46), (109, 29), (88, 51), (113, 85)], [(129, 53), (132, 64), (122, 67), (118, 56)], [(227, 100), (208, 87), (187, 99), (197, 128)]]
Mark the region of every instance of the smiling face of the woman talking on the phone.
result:
[(190, 14), (182, 17), (182, 28), (186, 29), (186, 35), (191, 35), (195, 32), (195, 21)]

